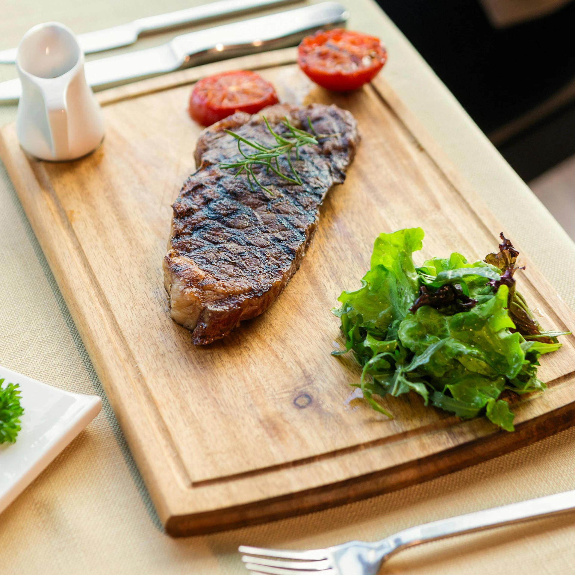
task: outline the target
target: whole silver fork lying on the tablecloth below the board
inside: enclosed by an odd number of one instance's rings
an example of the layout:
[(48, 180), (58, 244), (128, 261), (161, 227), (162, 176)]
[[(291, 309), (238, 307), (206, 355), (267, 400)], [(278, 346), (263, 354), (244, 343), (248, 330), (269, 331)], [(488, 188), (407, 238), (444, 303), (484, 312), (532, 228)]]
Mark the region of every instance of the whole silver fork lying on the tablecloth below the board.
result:
[(410, 527), (381, 541), (348, 541), (325, 549), (289, 551), (241, 545), (252, 573), (271, 575), (375, 575), (391, 555), (420, 543), (554, 515), (575, 508), (575, 490)]

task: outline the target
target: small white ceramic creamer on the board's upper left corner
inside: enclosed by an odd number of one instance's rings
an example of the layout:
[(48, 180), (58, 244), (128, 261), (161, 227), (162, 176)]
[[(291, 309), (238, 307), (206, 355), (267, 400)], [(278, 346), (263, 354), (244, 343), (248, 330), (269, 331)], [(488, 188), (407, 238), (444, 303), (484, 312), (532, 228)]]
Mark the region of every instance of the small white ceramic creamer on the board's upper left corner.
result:
[(104, 118), (86, 83), (74, 33), (58, 22), (30, 28), (18, 46), (16, 67), (22, 148), (43, 160), (73, 160), (95, 150), (104, 137)]

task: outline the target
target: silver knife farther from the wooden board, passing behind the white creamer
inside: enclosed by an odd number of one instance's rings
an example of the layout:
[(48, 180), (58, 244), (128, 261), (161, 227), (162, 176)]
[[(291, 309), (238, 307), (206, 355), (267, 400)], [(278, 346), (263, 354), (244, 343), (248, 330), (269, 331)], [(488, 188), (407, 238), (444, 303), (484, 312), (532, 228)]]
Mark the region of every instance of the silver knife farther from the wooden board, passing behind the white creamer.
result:
[[(133, 44), (144, 33), (160, 32), (187, 24), (197, 24), (213, 18), (227, 17), (293, 2), (297, 2), (297, 0), (221, 0), (221, 2), (194, 6), (177, 12), (159, 14), (159, 16), (139, 18), (139, 20), (105, 30), (78, 34), (78, 42), (85, 54), (102, 52)], [(0, 50), (0, 64), (16, 62), (17, 49)]]

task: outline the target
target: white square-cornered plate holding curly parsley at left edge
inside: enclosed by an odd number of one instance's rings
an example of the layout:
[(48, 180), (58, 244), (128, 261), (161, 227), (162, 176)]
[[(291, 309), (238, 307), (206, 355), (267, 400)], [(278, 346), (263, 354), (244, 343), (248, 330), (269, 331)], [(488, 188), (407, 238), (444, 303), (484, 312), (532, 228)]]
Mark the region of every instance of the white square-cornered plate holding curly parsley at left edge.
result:
[(24, 408), (16, 443), (0, 444), (0, 513), (98, 415), (102, 400), (52, 388), (0, 366), (2, 386), (20, 384)]

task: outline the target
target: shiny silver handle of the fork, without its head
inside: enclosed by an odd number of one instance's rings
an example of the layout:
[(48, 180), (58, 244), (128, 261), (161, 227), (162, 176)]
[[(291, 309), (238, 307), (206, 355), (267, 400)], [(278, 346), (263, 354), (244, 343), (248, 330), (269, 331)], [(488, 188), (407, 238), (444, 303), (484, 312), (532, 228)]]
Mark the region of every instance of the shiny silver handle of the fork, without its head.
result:
[(400, 549), (405, 549), (405, 547), (419, 545), (419, 543), (444, 539), (472, 531), (481, 531), (510, 523), (519, 523), (535, 519), (536, 517), (569, 511), (569, 509), (573, 508), (575, 508), (575, 490), (410, 527), (396, 535), (392, 535), (387, 539), (387, 542), (392, 544), (392, 553), (395, 553)]

